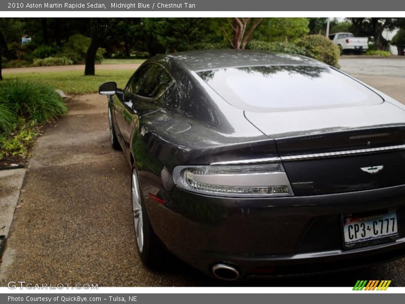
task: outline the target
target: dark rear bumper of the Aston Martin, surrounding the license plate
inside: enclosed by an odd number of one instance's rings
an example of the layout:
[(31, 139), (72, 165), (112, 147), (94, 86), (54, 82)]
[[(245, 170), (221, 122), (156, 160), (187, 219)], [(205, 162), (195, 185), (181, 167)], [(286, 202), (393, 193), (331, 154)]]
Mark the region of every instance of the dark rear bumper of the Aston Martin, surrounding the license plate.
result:
[[(294, 275), (360, 267), (405, 255), (405, 186), (266, 199), (159, 192), (147, 201), (152, 227), (167, 248), (200, 271), (227, 262), (242, 277)], [(144, 194), (147, 197), (147, 194)], [(393, 242), (345, 250), (341, 215), (397, 210)]]

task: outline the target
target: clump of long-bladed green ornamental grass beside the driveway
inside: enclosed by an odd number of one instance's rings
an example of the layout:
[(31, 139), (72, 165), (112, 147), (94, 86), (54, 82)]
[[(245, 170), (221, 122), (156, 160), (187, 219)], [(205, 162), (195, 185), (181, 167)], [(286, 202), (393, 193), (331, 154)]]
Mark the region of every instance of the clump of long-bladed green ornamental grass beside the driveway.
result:
[(51, 121), (67, 112), (62, 97), (54, 89), (30, 81), (2, 81), (0, 100), (17, 117), (36, 122)]

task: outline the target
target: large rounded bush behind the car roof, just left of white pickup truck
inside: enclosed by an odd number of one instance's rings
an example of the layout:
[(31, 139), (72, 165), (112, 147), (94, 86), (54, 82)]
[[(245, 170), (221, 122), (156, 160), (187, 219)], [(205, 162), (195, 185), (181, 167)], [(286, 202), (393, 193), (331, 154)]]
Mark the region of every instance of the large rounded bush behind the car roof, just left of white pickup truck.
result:
[(322, 35), (308, 35), (297, 41), (297, 46), (305, 49), (305, 55), (329, 65), (338, 67), (339, 47)]

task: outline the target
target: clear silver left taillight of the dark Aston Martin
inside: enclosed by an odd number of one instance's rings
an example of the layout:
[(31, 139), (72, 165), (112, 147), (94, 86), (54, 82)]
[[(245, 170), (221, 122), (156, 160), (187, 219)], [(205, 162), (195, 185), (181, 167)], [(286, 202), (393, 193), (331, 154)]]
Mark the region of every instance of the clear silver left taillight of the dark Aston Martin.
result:
[(178, 166), (173, 178), (188, 191), (229, 197), (292, 196), (281, 163), (252, 165)]

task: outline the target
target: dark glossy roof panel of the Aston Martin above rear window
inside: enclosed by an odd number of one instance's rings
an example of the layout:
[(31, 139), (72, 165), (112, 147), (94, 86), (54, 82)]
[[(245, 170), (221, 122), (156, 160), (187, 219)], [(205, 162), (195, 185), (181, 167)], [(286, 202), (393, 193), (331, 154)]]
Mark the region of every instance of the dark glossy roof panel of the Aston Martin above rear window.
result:
[(272, 53), (253, 50), (210, 50), (169, 54), (177, 61), (188, 65), (191, 70), (201, 71), (224, 67), (260, 65), (322, 65), (317, 60), (293, 54)]

